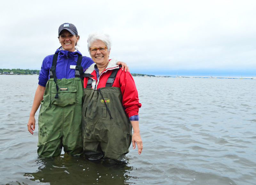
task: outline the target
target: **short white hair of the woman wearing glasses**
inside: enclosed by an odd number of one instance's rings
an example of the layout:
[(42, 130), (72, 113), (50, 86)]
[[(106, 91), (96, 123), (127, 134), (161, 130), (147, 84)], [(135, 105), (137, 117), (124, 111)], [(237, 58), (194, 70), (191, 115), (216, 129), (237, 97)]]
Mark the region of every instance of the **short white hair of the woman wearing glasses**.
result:
[(88, 51), (90, 52), (92, 43), (98, 40), (103, 41), (106, 44), (106, 47), (108, 48), (108, 52), (109, 52), (111, 49), (111, 41), (110, 41), (109, 35), (106, 33), (98, 33), (98, 32), (93, 32), (89, 34), (87, 39)]

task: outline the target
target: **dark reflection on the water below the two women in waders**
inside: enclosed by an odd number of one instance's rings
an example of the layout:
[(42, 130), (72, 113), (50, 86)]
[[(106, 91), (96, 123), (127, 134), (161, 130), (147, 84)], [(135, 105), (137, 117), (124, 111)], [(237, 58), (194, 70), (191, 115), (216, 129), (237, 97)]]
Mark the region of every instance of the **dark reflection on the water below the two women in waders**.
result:
[(55, 158), (38, 158), (36, 164), (38, 171), (25, 173), (24, 176), (43, 184), (126, 184), (131, 178), (129, 173), (133, 170), (129, 166), (129, 159), (126, 163), (110, 164), (92, 162), (68, 154)]

